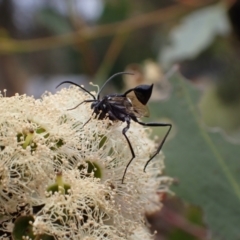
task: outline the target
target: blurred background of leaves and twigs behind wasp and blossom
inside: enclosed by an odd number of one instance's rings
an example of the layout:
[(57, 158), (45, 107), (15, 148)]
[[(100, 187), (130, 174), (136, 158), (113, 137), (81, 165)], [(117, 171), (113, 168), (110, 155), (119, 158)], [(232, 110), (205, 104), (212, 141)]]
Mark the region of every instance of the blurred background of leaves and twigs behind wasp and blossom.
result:
[(163, 152), (175, 196), (159, 195), (150, 230), (240, 239), (239, 40), (237, 0), (0, 0), (0, 89), (40, 98), (121, 71), (135, 74), (106, 93), (154, 83), (151, 120), (173, 124)]

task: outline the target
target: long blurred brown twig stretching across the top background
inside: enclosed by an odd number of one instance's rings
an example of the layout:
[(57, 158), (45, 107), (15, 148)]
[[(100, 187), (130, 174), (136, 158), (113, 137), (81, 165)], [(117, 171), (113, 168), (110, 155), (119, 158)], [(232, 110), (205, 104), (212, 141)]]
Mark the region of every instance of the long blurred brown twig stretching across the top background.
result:
[(0, 54), (23, 53), (47, 50), (51, 48), (64, 47), (79, 44), (84, 41), (90, 41), (96, 38), (113, 35), (121, 31), (133, 31), (145, 28), (150, 25), (179, 17), (196, 8), (214, 3), (214, 0), (200, 2), (197, 5), (186, 7), (181, 4), (175, 4), (166, 9), (159, 9), (154, 12), (141, 14), (139, 16), (126, 19), (117, 23), (109, 23), (102, 26), (82, 28), (79, 31), (65, 35), (32, 39), (32, 40), (14, 40), (9, 38), (0, 38)]

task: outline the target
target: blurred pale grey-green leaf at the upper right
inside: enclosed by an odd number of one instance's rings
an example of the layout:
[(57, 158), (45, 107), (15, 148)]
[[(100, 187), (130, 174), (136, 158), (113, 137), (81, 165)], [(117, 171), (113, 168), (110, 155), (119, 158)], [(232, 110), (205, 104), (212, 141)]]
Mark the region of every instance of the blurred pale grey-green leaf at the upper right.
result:
[(160, 62), (171, 65), (179, 60), (192, 59), (216, 36), (228, 35), (230, 29), (227, 7), (223, 3), (196, 10), (170, 32), (170, 44), (161, 51)]

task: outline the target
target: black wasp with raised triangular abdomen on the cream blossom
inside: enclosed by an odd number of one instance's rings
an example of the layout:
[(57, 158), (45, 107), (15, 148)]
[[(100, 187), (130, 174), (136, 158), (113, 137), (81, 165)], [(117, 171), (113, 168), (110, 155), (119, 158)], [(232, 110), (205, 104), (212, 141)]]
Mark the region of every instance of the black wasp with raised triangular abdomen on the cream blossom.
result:
[[(100, 93), (106, 86), (106, 84), (111, 81), (114, 77), (118, 75), (123, 75), (123, 74), (130, 74), (128, 72), (119, 72), (111, 76), (101, 87), (99, 90), (97, 97), (95, 97), (92, 93), (90, 93), (87, 89), (84, 87), (71, 82), (71, 81), (64, 81), (61, 82), (57, 87), (64, 83), (70, 83), (73, 85), (78, 86), (81, 88), (83, 91), (87, 92), (90, 96), (92, 96), (93, 99), (85, 100), (81, 103), (79, 103), (77, 106), (75, 106), (72, 109), (77, 108), (83, 103), (92, 103), (91, 104), (91, 109), (93, 109), (93, 114), (96, 114), (97, 119), (102, 120), (104, 118), (109, 118), (112, 121), (122, 121), (126, 122), (127, 126), (123, 128), (122, 134), (125, 137), (128, 146), (130, 148), (132, 158), (128, 162), (124, 173), (122, 177), (122, 183), (124, 181), (124, 177), (126, 175), (127, 169), (129, 165), (131, 164), (132, 160), (135, 158), (135, 153), (132, 147), (131, 142), (129, 141), (126, 132), (130, 128), (131, 120), (134, 122), (137, 122), (140, 125), (143, 126), (149, 126), (149, 127), (168, 127), (168, 131), (165, 134), (163, 140), (161, 141), (160, 145), (158, 146), (157, 150), (152, 154), (152, 156), (148, 159), (146, 162), (143, 171), (145, 172), (147, 165), (149, 162), (160, 152), (169, 132), (171, 131), (172, 124), (170, 123), (144, 123), (138, 120), (138, 118), (141, 117), (148, 117), (149, 112), (148, 108), (146, 106), (148, 100), (150, 99), (152, 95), (152, 89), (153, 89), (153, 84), (152, 85), (139, 85), (135, 88), (131, 88), (127, 90), (123, 94), (109, 94), (104, 96), (102, 99), (100, 99)], [(72, 110), (69, 109), (69, 110)], [(91, 120), (91, 118), (84, 124), (84, 126)]]

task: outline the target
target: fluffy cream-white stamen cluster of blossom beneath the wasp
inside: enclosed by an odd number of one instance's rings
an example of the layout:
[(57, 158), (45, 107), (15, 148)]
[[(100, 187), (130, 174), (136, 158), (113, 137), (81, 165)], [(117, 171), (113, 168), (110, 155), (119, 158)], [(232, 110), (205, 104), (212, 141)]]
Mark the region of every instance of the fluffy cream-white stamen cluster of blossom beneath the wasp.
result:
[(125, 123), (94, 119), (89, 103), (67, 110), (86, 99), (76, 87), (40, 100), (0, 96), (0, 233), (32, 215), (38, 239), (151, 239), (144, 213), (160, 207), (158, 193), (171, 183), (162, 176), (163, 155), (144, 173), (155, 145), (147, 129), (131, 123), (136, 158), (122, 184), (131, 159)]

